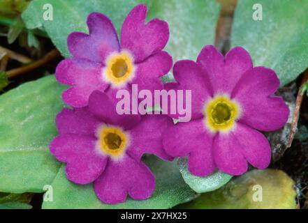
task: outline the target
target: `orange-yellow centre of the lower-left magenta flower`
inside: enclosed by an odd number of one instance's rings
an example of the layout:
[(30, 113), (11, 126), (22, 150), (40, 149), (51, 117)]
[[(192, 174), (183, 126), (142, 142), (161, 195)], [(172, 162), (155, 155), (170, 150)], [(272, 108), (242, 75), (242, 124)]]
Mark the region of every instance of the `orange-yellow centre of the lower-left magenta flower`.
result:
[(98, 148), (113, 158), (124, 155), (128, 144), (128, 135), (117, 127), (103, 126), (98, 129)]

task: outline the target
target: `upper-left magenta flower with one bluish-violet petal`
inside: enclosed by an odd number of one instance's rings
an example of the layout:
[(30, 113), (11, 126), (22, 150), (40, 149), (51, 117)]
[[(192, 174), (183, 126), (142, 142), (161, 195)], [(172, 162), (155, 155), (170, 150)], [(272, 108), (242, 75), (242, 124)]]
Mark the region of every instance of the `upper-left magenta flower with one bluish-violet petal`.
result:
[[(64, 91), (64, 102), (73, 107), (87, 105), (95, 91), (116, 89), (163, 89), (160, 77), (173, 61), (162, 49), (169, 38), (167, 22), (154, 19), (145, 24), (147, 6), (139, 5), (127, 15), (119, 43), (115, 27), (108, 17), (91, 13), (87, 18), (89, 35), (73, 32), (68, 36), (68, 49), (73, 55), (57, 66), (56, 78), (70, 85)], [(114, 91), (112, 92), (114, 94)]]

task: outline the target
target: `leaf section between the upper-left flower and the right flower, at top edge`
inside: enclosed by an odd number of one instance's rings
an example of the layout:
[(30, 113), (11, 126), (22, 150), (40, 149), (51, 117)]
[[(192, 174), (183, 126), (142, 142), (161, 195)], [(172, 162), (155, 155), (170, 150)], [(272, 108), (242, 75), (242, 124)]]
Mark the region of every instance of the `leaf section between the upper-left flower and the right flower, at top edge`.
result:
[(219, 5), (212, 0), (155, 0), (149, 18), (166, 20), (170, 40), (166, 47), (173, 60), (196, 60), (205, 45), (214, 44)]

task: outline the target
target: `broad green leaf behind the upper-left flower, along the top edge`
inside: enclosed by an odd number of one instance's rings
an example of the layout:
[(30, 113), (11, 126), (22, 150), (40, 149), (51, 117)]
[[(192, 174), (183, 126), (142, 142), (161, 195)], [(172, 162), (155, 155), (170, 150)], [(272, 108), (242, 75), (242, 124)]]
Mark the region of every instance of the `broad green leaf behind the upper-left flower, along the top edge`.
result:
[[(43, 20), (45, 3), (53, 6), (53, 21)], [(204, 45), (214, 43), (219, 7), (212, 0), (40, 0), (31, 2), (22, 18), (28, 29), (44, 26), (54, 45), (68, 57), (66, 38), (73, 31), (88, 33), (89, 13), (108, 15), (119, 33), (127, 13), (138, 3), (147, 3), (149, 18), (159, 17), (169, 23), (170, 40), (166, 49), (174, 59), (196, 59)]]

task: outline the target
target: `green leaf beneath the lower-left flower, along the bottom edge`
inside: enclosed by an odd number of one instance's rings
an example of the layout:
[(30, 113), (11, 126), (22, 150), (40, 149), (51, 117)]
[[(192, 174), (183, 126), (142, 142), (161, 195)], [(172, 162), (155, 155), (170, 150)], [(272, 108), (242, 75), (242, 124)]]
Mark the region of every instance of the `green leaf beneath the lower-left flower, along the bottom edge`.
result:
[(146, 156), (145, 162), (156, 178), (155, 192), (145, 201), (128, 198), (124, 203), (106, 205), (98, 200), (92, 185), (71, 183), (63, 166), (52, 183), (53, 201), (44, 201), (43, 208), (172, 208), (195, 197), (182, 180), (175, 162), (162, 161), (154, 156)]

